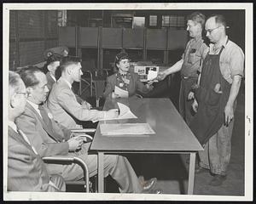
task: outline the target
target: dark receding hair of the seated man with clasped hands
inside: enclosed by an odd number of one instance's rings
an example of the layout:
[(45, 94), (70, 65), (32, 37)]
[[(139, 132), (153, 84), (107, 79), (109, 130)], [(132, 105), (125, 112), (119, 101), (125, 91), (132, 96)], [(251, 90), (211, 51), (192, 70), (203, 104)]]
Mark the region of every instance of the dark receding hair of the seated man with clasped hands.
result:
[(19, 71), (22, 81), (25, 83), (26, 88), (38, 85), (39, 81), (35, 73), (42, 72), (37, 66), (27, 66)]

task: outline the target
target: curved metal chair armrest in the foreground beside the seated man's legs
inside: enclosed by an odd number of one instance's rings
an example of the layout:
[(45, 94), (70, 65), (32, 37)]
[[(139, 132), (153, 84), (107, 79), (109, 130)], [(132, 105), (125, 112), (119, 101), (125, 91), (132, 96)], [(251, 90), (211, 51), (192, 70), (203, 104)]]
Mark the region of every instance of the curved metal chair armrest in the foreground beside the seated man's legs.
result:
[(43, 161), (45, 163), (62, 163), (67, 162), (77, 163), (84, 170), (84, 186), (86, 186), (86, 192), (89, 193), (89, 170), (85, 162), (77, 156), (44, 156)]

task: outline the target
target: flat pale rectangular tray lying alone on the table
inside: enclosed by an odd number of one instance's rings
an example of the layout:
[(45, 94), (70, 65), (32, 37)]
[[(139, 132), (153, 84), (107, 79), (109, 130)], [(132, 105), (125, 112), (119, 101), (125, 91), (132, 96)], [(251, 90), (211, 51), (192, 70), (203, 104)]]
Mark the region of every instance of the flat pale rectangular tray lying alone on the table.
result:
[(155, 134), (148, 123), (101, 124), (102, 135)]

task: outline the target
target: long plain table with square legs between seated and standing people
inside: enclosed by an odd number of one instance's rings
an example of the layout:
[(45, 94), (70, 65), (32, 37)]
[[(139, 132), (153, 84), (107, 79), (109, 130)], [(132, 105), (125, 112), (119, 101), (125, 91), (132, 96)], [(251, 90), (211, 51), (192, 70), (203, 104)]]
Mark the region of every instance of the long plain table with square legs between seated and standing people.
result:
[[(117, 108), (117, 102), (128, 105), (137, 119), (99, 122), (90, 150), (98, 153), (98, 192), (103, 192), (103, 156), (106, 153), (190, 154), (188, 194), (193, 194), (195, 153), (203, 150), (170, 99), (107, 99), (104, 110)], [(100, 131), (102, 123), (145, 123), (155, 134), (106, 136)]]

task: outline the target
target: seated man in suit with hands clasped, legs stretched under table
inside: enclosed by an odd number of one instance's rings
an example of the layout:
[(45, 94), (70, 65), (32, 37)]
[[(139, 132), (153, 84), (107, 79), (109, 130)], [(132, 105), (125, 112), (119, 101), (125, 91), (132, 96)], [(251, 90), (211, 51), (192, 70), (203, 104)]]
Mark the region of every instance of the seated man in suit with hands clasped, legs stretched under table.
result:
[[(49, 109), (42, 105), (49, 92), (47, 79), (36, 67), (20, 70), (20, 77), (25, 82), (28, 98), (25, 112), (17, 118), (17, 126), (26, 133), (40, 156), (79, 156), (89, 168), (89, 175), (97, 173), (97, 156), (88, 155), (90, 143), (83, 144), (83, 138), (72, 135), (66, 127), (55, 122)], [(55, 86), (55, 85), (54, 85)], [(75, 99), (75, 98), (74, 98)], [(104, 157), (104, 175), (110, 174), (119, 184), (120, 192), (141, 193), (151, 192), (154, 182), (143, 186), (139, 183), (130, 162), (123, 156)], [(49, 172), (61, 173), (65, 180), (83, 178), (83, 170), (79, 165), (47, 164)], [(147, 190), (144, 190), (144, 189)]]

